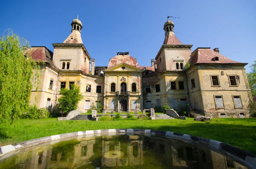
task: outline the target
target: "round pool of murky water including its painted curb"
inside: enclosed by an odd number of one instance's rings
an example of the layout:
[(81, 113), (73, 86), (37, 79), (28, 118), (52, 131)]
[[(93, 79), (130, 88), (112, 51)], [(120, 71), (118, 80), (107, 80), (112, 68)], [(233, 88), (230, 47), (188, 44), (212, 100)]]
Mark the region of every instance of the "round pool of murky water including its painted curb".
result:
[(3, 146), (1, 152), (4, 169), (250, 169), (256, 164), (255, 155), (224, 143), (136, 129), (55, 135)]

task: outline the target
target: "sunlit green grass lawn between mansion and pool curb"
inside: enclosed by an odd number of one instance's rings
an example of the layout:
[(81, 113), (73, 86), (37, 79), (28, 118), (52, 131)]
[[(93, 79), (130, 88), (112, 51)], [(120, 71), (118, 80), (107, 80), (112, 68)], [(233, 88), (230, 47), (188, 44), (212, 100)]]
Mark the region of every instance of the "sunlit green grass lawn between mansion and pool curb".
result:
[(228, 143), (256, 154), (256, 118), (217, 118), (211, 122), (188, 120), (119, 120), (89, 121), (17, 120), (0, 124), (0, 146), (39, 137), (96, 129), (152, 129), (206, 137)]

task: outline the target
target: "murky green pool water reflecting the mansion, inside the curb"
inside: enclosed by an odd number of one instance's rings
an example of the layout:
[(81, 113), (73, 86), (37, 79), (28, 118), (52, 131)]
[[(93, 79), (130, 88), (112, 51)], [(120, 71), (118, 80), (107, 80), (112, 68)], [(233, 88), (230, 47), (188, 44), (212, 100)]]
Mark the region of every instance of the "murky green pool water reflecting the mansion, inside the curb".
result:
[(1, 169), (246, 169), (207, 146), (145, 135), (102, 135), (47, 143), (0, 158)]

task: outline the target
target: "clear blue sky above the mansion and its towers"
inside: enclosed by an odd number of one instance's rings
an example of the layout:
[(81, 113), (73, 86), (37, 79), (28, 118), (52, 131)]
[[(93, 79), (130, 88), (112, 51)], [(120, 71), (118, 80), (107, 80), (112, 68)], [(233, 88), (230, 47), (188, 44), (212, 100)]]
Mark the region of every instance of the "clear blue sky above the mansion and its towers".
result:
[(218, 47), (233, 60), (256, 60), (255, 0), (52, 0), (1, 3), (0, 32), (12, 28), (31, 46), (62, 43), (79, 14), (81, 37), (96, 66), (108, 66), (116, 52), (130, 52), (140, 66), (150, 66), (164, 40), (167, 16), (183, 44)]

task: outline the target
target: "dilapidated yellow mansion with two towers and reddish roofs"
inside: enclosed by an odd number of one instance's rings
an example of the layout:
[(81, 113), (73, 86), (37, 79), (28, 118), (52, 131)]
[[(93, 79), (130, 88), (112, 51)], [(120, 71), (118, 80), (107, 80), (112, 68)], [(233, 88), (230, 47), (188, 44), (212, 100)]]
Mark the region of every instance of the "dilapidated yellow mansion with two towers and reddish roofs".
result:
[[(61, 88), (81, 87), (83, 99), (78, 109), (86, 112), (96, 102), (107, 112), (142, 111), (167, 103), (207, 117), (250, 117), (250, 87), (244, 66), (219, 53), (218, 48), (185, 45), (167, 20), (163, 45), (151, 66), (139, 66), (129, 52), (117, 52), (108, 66), (95, 66), (81, 39), (82, 23), (74, 19), (71, 34), (63, 43), (28, 49), (32, 58), (44, 62), (39, 90), (32, 89), (31, 104), (55, 107)], [(35, 97), (37, 99), (35, 99)], [(35, 101), (36, 100), (36, 101)]]

